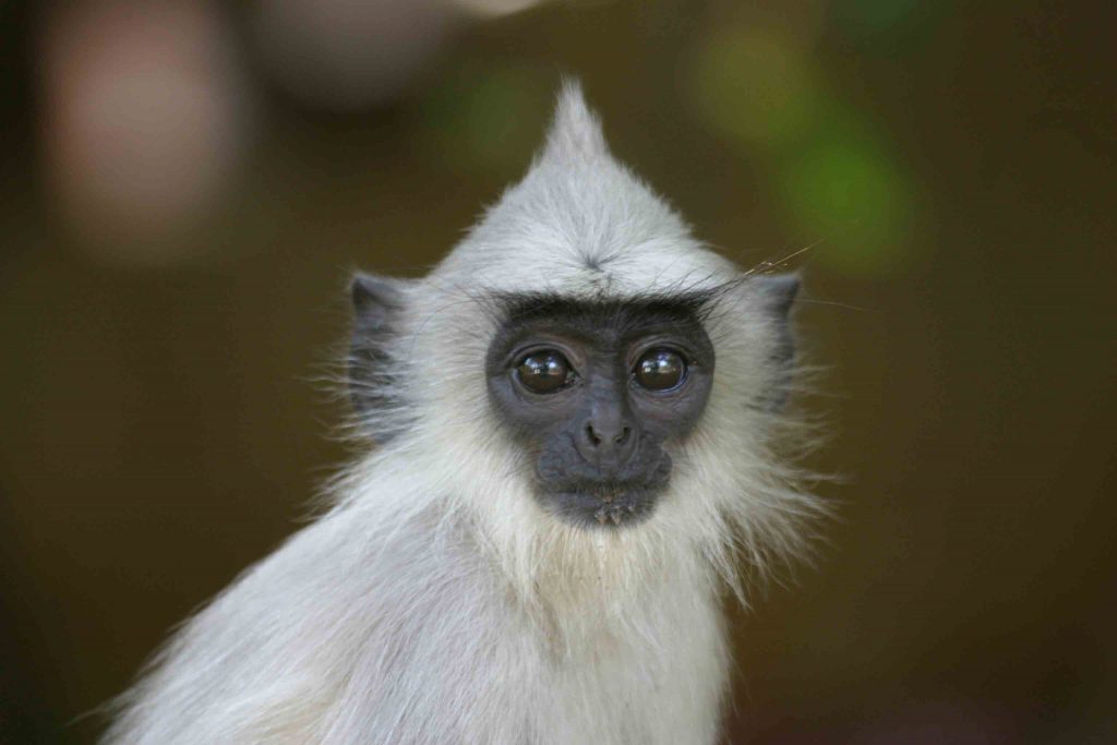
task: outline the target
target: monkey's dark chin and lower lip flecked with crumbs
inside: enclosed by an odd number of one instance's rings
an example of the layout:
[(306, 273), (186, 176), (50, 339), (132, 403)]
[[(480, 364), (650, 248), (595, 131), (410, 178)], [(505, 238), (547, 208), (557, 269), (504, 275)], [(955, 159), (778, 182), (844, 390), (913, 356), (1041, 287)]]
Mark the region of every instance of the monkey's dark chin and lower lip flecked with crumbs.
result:
[(665, 484), (585, 484), (540, 494), (547, 512), (584, 529), (620, 531), (643, 523), (655, 512)]

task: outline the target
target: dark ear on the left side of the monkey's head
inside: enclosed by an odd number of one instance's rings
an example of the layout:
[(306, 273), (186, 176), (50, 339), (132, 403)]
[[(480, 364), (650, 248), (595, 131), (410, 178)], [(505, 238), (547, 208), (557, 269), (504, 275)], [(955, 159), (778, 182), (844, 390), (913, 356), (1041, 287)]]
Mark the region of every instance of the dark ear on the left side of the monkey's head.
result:
[[(349, 388), (353, 409), (372, 423), (397, 413), (398, 363), (392, 354), (399, 314), (407, 305), (405, 279), (357, 274), (350, 284), (353, 298), (353, 335), (350, 341)], [(378, 440), (390, 431), (371, 432)]]

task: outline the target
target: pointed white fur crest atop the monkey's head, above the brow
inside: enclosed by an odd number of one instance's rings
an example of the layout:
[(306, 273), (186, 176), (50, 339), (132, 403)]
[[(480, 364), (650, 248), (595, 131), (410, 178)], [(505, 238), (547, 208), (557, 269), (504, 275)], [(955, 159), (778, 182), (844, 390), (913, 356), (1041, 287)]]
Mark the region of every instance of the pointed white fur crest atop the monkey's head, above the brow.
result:
[(531, 287), (567, 296), (637, 297), (712, 288), (737, 274), (610, 154), (581, 87), (566, 83), (528, 172), (430, 279), (488, 294)]

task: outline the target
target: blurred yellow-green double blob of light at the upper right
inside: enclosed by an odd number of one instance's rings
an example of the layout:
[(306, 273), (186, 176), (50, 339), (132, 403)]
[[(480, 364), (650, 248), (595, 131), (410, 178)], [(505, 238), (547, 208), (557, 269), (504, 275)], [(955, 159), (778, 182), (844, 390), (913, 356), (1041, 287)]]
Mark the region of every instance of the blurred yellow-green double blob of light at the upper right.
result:
[(722, 28), (697, 50), (687, 93), (704, 124), (767, 169), (789, 235), (820, 242), (813, 264), (894, 270), (911, 250), (913, 184), (887, 137), (813, 63), (785, 31)]

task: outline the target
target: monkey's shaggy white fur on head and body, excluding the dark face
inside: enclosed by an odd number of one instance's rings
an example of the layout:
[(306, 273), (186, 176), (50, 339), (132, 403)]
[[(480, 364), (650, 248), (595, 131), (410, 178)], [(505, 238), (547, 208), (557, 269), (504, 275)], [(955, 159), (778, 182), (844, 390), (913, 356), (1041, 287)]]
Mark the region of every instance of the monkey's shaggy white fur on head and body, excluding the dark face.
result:
[[(720, 590), (801, 547), (819, 512), (773, 452), (787, 423), (765, 284), (699, 245), (607, 150), (576, 85), (517, 185), (399, 303), (364, 428), (398, 432), (333, 506), (178, 632), (106, 743), (712, 743), (729, 655)], [(486, 395), (514, 292), (705, 290), (717, 357), (697, 431), (651, 519), (546, 515)], [(428, 370), (471, 371), (442, 384)], [(379, 382), (378, 382), (379, 381)]]

